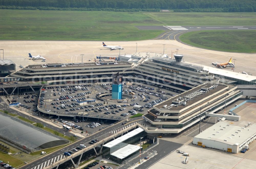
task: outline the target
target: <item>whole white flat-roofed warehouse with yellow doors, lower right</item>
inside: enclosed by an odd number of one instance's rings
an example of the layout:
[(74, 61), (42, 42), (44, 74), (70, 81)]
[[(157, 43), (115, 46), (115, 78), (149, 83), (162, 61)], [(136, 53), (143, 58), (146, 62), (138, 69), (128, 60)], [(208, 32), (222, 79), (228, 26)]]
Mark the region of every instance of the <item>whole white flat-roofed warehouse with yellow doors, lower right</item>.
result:
[(220, 121), (193, 138), (193, 144), (238, 153), (256, 139), (256, 124), (248, 121)]

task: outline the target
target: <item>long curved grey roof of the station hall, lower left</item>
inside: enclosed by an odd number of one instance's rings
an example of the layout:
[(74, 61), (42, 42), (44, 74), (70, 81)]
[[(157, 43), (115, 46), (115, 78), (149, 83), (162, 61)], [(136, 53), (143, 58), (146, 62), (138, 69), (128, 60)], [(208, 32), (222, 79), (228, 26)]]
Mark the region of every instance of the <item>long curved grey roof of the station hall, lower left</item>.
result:
[(24, 152), (29, 153), (69, 143), (68, 140), (58, 138), (33, 125), (28, 126), (14, 117), (0, 114), (0, 119), (0, 140)]

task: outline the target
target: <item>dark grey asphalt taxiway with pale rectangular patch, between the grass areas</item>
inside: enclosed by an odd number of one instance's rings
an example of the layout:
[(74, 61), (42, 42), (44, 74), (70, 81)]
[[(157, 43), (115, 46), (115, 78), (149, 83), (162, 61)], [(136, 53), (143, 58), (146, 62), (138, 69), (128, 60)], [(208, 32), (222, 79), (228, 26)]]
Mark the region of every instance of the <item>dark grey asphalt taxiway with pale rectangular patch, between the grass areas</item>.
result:
[(256, 30), (256, 26), (136, 26), (140, 30), (164, 30), (164, 34), (153, 40), (179, 40), (179, 36), (191, 32), (202, 30)]

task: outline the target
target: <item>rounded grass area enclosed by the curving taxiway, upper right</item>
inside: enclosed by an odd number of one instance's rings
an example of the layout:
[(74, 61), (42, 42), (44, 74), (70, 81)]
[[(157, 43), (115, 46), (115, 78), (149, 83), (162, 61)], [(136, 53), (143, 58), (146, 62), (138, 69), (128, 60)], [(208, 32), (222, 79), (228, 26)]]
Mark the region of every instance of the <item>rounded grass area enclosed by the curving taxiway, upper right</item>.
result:
[(184, 43), (225, 52), (256, 52), (256, 31), (194, 31), (179, 37)]

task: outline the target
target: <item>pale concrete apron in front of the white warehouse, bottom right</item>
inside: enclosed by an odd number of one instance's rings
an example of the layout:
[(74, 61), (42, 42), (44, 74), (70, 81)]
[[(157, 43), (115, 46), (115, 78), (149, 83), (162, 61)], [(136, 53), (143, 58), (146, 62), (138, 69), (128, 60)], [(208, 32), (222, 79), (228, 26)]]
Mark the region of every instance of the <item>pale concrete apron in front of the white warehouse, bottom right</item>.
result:
[[(148, 169), (253, 169), (255, 168), (256, 165), (256, 161), (254, 160), (255, 153), (253, 153), (255, 152), (255, 149), (251, 149), (246, 153), (241, 153), (242, 155), (244, 155), (244, 157), (237, 157), (236, 154), (233, 153), (191, 145), (183, 145), (178, 149), (181, 151), (185, 151), (186, 153), (189, 153), (187, 164), (183, 163), (184, 159), (187, 156), (184, 156), (181, 153), (173, 151), (167, 156), (157, 161), (155, 164), (148, 167)], [(248, 156), (249, 153), (253, 154)]]

